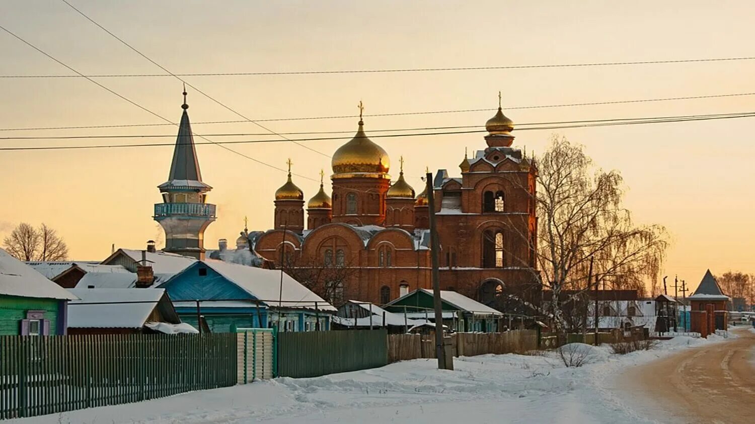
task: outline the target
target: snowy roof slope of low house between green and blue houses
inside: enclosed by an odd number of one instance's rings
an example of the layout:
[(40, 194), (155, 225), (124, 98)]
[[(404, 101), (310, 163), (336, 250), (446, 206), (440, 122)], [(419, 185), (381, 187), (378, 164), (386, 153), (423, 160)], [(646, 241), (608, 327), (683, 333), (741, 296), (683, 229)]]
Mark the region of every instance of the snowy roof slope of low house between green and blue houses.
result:
[[(71, 289), (71, 293), (81, 300), (73, 300), (69, 303), (69, 328), (141, 328), (165, 294), (165, 290), (162, 288), (74, 288)], [(99, 304), (88, 305), (87, 303)]]

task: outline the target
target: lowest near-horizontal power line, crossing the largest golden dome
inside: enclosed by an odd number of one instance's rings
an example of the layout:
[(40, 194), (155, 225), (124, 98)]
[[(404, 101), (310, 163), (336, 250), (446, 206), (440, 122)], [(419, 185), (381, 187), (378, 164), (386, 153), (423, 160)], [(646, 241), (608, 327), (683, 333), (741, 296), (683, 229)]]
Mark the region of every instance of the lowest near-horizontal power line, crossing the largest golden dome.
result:
[[(630, 120), (630, 121), (608, 121), (608, 122), (594, 122), (584, 124), (569, 124), (569, 125), (553, 125), (553, 126), (541, 126), (531, 128), (518, 128), (515, 131), (541, 131), (541, 130), (560, 130), (565, 128), (591, 128), (591, 127), (608, 127), (616, 125), (632, 125), (632, 124), (661, 124), (670, 122), (686, 122), (686, 121), (709, 121), (713, 119), (730, 119), (730, 118), (752, 118), (755, 117), (755, 112), (742, 112), (739, 114), (726, 114), (726, 115), (687, 115), (680, 117), (669, 118), (646, 118), (644, 120)], [(381, 134), (371, 136), (373, 138), (378, 137), (425, 137), (425, 136), (442, 136), (452, 134), (472, 134), (485, 132), (484, 130), (473, 131), (448, 131), (448, 132), (432, 132), (432, 133), (419, 133), (419, 134)], [(297, 139), (297, 141), (318, 141), (318, 140), (345, 140), (351, 137), (317, 137)], [(249, 144), (249, 143), (280, 143), (282, 140), (236, 140), (236, 141), (219, 141), (210, 142), (211, 144)], [(195, 143), (197, 145), (210, 144), (210, 143)], [(94, 146), (25, 146), (25, 147), (4, 147), (0, 148), (0, 151), (20, 151), (20, 150), (70, 150), (70, 149), (107, 149), (107, 148), (122, 148), (122, 147), (156, 147), (156, 146), (174, 146), (174, 143), (141, 143), (141, 144), (109, 144), (109, 145), (94, 145)], [(272, 166), (272, 165), (270, 165)], [(297, 175), (297, 177), (303, 177), (307, 180), (313, 180), (309, 177)]]

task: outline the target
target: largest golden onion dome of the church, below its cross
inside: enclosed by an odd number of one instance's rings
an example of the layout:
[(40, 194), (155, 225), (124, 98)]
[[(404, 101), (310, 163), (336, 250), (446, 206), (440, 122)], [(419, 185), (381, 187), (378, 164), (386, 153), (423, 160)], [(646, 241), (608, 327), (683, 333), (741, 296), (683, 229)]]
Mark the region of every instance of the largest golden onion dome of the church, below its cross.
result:
[(335, 151), (331, 161), (333, 178), (388, 177), (388, 154), (381, 146), (367, 138), (363, 127), (364, 122), (360, 120), (359, 130), (354, 138)]

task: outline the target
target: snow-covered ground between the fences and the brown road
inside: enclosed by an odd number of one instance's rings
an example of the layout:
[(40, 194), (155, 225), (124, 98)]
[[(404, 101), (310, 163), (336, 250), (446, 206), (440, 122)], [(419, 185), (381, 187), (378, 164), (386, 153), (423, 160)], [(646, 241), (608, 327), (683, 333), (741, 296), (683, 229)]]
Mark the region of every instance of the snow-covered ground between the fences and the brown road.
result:
[(612, 355), (609, 346), (582, 345), (592, 352), (592, 361), (578, 368), (565, 367), (555, 352), (455, 358), (454, 371), (436, 370), (435, 360), (405, 361), (373, 370), (279, 378), (8, 423), (655, 422), (642, 410), (627, 406), (627, 396), (637, 404), (638, 394), (616, 389), (617, 373), (679, 349), (720, 340), (719, 336), (676, 337), (651, 351), (628, 355)]

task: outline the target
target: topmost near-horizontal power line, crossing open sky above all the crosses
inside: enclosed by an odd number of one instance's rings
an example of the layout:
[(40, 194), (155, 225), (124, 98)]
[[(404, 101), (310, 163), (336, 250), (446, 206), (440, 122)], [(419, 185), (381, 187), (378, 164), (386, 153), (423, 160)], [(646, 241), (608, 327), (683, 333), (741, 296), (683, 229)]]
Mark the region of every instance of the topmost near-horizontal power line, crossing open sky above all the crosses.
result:
[[(63, 0), (65, 1), (65, 0)], [(67, 2), (66, 2), (67, 3)], [(69, 6), (71, 6), (69, 4)], [(73, 8), (73, 6), (71, 6)], [(75, 8), (74, 8), (75, 9)], [(78, 9), (75, 9), (79, 11)], [(81, 11), (80, 14), (84, 15)], [(84, 15), (86, 17), (86, 15)], [(88, 18), (89, 19), (89, 18)], [(92, 21), (94, 23), (94, 21)], [(97, 23), (95, 23), (99, 26)], [(112, 34), (111, 34), (112, 35)], [(115, 35), (113, 35), (115, 36)], [(542, 65), (509, 65), (509, 66), (461, 66), (444, 68), (396, 68), (396, 69), (344, 69), (323, 71), (274, 71), (274, 72), (191, 72), (180, 74), (96, 74), (86, 75), (91, 78), (160, 78), (166, 76), (254, 76), (254, 75), (327, 75), (327, 74), (375, 74), (400, 72), (451, 72), (451, 71), (489, 71), (502, 69), (544, 69), (544, 68), (587, 68), (594, 66), (631, 66), (631, 65), (659, 65), (668, 63), (705, 63), (732, 62), (738, 60), (753, 60), (755, 57), (714, 57), (704, 59), (680, 60), (638, 60), (632, 62), (593, 62), (593, 63), (556, 63)], [(161, 66), (162, 67), (162, 66)], [(0, 75), (0, 78), (79, 78), (84, 75)]]

